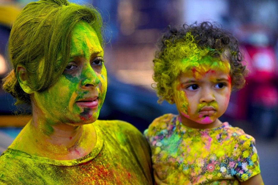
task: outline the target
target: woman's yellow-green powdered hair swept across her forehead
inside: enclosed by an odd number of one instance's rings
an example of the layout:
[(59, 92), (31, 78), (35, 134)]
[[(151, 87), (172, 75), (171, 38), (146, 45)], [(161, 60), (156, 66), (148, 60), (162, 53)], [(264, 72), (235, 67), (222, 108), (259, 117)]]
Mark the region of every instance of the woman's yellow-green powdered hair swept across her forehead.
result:
[(9, 38), (8, 53), (13, 70), (3, 79), (3, 89), (17, 99), (15, 104), (31, 102), (29, 94), (19, 85), (17, 66), (21, 64), (26, 69), (32, 91), (49, 88), (68, 64), (71, 31), (81, 20), (96, 31), (103, 45), (102, 17), (93, 6), (69, 3), (67, 0), (40, 0), (23, 8)]

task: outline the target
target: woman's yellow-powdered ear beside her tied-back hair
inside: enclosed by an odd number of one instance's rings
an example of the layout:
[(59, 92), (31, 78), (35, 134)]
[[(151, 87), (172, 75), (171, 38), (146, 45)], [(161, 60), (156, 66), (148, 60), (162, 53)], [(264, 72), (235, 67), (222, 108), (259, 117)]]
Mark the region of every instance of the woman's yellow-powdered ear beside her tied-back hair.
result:
[(27, 73), (26, 73), (26, 69), (23, 65), (19, 64), (16, 67), (16, 73), (17, 73), (17, 77), (18, 77), (18, 82), (20, 87), (22, 88), (22, 90), (24, 92), (26, 92), (27, 94), (32, 94), (34, 93), (33, 90), (31, 90), (30, 86), (29, 86), (29, 81), (27, 80)]

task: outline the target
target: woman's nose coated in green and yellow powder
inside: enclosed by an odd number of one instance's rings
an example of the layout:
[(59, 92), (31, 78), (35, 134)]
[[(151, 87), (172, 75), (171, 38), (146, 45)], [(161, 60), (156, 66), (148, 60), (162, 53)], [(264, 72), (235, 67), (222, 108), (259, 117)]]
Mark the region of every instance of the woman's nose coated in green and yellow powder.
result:
[(81, 86), (87, 87), (87, 86), (97, 86), (100, 82), (99, 78), (97, 77), (97, 74), (94, 72), (94, 69), (90, 65), (86, 65), (83, 67), (83, 70), (81, 72)]

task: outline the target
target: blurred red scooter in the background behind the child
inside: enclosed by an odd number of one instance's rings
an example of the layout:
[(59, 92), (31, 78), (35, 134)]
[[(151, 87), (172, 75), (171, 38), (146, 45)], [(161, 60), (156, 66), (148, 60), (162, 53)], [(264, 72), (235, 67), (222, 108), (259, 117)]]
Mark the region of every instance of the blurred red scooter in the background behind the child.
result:
[(241, 51), (249, 76), (246, 86), (231, 96), (227, 115), (251, 121), (258, 135), (273, 138), (278, 127), (278, 62), (264, 32), (248, 33)]

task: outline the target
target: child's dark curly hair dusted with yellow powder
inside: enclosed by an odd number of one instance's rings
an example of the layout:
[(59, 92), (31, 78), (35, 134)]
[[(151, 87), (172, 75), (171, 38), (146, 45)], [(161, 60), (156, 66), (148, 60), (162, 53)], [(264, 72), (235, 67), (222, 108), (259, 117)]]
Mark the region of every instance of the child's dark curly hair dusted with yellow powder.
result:
[(239, 51), (238, 41), (217, 23), (168, 26), (168, 31), (159, 39), (157, 47), (158, 51), (153, 60), (153, 79), (156, 82), (154, 88), (157, 90), (159, 103), (163, 100), (173, 103), (172, 84), (181, 72), (178, 63), (183, 59), (198, 61), (208, 56), (213, 58), (224, 56), (230, 63), (232, 86), (240, 89), (245, 84), (247, 70), (242, 64), (243, 56)]

